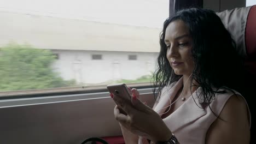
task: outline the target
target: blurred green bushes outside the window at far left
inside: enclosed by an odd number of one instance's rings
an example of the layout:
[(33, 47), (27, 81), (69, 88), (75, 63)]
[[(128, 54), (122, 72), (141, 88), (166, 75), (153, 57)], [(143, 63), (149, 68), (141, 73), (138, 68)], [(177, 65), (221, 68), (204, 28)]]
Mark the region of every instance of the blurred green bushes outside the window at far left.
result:
[(0, 48), (0, 91), (68, 87), (51, 65), (56, 56), (50, 50), (30, 45), (8, 44)]

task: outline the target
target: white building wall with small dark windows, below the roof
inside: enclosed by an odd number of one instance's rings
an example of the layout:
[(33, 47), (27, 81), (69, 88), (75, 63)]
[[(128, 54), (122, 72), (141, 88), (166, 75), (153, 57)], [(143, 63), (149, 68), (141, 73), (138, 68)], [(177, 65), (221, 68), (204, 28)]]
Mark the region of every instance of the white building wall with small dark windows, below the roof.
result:
[[(77, 83), (106, 83), (120, 79), (135, 80), (149, 75), (156, 69), (157, 52), (109, 52), (53, 50), (59, 55), (53, 68), (65, 80)], [(91, 55), (102, 55), (92, 60)], [(129, 60), (136, 55), (137, 60)]]

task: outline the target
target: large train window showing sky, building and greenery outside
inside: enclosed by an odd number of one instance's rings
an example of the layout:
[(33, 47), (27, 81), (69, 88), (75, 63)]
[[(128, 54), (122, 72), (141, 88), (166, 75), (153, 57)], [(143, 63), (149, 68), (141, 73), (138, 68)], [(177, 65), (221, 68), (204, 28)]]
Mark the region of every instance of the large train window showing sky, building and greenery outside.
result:
[(0, 95), (150, 82), (168, 14), (169, 0), (4, 0)]

